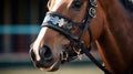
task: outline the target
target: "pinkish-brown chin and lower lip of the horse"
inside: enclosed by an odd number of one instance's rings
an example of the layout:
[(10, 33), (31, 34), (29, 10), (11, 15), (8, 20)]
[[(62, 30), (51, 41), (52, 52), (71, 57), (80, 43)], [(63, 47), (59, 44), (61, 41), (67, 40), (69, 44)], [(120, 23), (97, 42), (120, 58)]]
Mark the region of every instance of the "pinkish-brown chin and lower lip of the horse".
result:
[(47, 71), (47, 72), (55, 72), (58, 71), (60, 67), (60, 62), (57, 61), (55, 63), (53, 63), (51, 66), (49, 67), (40, 67), (41, 71)]

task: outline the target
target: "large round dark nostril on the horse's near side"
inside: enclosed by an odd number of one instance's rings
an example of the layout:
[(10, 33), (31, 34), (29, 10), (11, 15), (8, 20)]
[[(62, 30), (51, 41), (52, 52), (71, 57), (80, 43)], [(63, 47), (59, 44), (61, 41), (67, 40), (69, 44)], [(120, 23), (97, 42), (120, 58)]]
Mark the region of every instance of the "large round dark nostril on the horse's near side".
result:
[(50, 61), (52, 60), (52, 51), (50, 50), (50, 47), (48, 47), (47, 45), (43, 45), (40, 49), (40, 56), (44, 60), (44, 61)]

